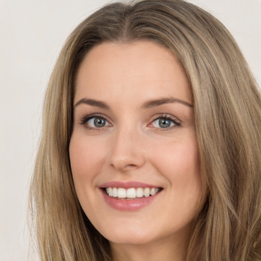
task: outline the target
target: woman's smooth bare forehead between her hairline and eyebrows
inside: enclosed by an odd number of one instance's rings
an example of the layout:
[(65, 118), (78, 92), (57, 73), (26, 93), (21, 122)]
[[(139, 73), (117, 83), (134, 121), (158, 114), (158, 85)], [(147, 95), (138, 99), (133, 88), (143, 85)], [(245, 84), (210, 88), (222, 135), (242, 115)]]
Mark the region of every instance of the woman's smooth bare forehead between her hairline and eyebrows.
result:
[(106, 42), (93, 47), (76, 75), (75, 100), (154, 99), (177, 96), (192, 102), (186, 73), (166, 47), (150, 42)]

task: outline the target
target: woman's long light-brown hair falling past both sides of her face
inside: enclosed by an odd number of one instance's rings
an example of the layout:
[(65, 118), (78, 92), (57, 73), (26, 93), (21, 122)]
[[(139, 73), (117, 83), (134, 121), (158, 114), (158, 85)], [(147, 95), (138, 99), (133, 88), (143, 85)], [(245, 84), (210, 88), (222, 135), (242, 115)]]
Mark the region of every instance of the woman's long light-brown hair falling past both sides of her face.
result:
[(69, 160), (77, 69), (103, 42), (152, 41), (184, 67), (194, 99), (202, 195), (187, 260), (261, 255), (261, 98), (238, 45), (216, 18), (182, 0), (114, 3), (70, 34), (46, 91), (31, 185), (41, 260), (111, 260), (77, 199)]

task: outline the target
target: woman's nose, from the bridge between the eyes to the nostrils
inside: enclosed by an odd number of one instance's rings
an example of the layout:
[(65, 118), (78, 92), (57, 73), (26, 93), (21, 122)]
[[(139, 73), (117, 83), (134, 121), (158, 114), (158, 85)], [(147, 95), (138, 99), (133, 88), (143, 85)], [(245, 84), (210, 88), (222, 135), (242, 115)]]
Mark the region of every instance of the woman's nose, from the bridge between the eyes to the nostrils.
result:
[(112, 137), (107, 163), (122, 172), (141, 168), (145, 164), (142, 140), (134, 129), (118, 129)]

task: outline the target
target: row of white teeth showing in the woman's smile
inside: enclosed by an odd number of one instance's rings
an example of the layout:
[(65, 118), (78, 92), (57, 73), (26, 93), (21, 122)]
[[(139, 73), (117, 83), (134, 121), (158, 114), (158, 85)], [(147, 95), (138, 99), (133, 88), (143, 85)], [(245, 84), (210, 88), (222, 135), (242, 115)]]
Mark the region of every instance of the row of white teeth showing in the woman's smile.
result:
[(107, 187), (103, 188), (105, 193), (109, 197), (117, 198), (117, 199), (139, 199), (139, 198), (147, 198), (150, 196), (154, 196), (159, 193), (162, 188), (115, 188), (115, 187)]

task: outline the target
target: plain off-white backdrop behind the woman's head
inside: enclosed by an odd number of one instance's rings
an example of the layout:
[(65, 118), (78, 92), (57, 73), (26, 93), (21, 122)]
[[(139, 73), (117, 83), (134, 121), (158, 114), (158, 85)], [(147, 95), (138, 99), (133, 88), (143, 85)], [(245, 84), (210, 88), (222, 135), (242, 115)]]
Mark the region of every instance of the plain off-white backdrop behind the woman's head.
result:
[[(0, 0), (0, 261), (36, 261), (28, 191), (48, 77), (69, 33), (106, 0)], [(261, 0), (191, 0), (221, 20), (261, 83)]]

